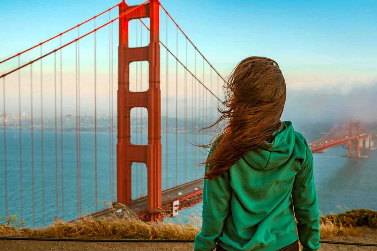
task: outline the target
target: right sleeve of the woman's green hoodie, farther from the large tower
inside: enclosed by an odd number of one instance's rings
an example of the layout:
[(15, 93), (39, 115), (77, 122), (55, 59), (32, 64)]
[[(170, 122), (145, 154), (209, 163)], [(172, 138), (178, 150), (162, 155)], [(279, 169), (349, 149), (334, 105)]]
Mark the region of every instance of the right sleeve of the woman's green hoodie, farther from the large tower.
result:
[(292, 198), (302, 251), (320, 248), (319, 208), (313, 175), (313, 154), (308, 147), (307, 160), (296, 175)]

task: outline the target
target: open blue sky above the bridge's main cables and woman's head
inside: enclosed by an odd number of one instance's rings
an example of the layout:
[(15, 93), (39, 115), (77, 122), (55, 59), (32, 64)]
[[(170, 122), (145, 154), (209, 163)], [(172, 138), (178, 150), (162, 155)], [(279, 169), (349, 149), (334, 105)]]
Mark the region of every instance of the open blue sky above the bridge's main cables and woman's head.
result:
[[(0, 58), (75, 26), (117, 2), (2, 0)], [(377, 75), (375, 1), (161, 3), (225, 74), (242, 58), (261, 55), (280, 64), (286, 78), (293, 80), (292, 87), (322, 86), (325, 83), (317, 81), (326, 78), (331, 84), (347, 82), (345, 78), (354, 79), (348, 84), (357, 84), (370, 82)]]

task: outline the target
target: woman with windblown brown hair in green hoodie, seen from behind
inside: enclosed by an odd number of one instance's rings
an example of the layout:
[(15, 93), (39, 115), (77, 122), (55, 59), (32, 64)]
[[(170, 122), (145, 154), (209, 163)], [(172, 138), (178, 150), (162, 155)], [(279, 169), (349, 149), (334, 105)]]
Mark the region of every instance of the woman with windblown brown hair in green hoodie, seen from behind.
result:
[(194, 250), (299, 250), (298, 239), (302, 250), (319, 249), (313, 155), (292, 123), (280, 121), (287, 89), (279, 65), (246, 58), (225, 90), (227, 110), (211, 126), (227, 126), (203, 146), (211, 150), (201, 163), (203, 221)]

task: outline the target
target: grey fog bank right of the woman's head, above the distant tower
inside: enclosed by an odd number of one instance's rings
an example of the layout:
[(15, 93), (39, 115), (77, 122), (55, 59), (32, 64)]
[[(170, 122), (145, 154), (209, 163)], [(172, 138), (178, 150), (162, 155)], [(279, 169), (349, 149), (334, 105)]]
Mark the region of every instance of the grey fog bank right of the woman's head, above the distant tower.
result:
[(282, 117), (291, 120), (336, 121), (352, 116), (362, 122), (377, 122), (377, 81), (351, 88), (288, 90)]

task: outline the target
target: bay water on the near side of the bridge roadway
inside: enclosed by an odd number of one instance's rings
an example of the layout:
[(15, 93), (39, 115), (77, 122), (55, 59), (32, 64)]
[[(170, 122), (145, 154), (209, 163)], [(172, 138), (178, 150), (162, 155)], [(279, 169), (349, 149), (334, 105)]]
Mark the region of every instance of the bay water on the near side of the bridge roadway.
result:
[[(377, 210), (377, 150), (362, 150), (369, 158), (345, 158), (348, 153), (340, 146), (314, 154), (314, 181), (320, 215), (340, 213), (350, 209)], [(202, 203), (182, 210), (175, 221), (187, 222), (187, 216), (201, 217)]]

